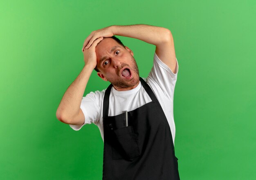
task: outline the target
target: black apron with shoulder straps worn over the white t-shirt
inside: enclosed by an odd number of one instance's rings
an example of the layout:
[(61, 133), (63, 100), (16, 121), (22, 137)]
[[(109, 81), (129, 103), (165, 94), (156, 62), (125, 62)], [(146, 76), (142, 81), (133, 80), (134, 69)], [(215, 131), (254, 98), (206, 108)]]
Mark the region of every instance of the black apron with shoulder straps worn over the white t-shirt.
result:
[(152, 102), (117, 116), (108, 116), (112, 84), (105, 91), (103, 180), (180, 180), (164, 111), (152, 89), (140, 81)]

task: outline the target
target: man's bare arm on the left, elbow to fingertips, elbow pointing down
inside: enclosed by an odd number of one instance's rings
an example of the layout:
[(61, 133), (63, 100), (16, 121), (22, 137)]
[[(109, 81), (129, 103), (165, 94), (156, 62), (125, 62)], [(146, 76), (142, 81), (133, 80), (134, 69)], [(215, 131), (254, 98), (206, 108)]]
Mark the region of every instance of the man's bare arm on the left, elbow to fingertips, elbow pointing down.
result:
[(79, 76), (67, 88), (56, 111), (56, 117), (61, 122), (81, 125), (85, 121), (85, 117), (80, 109), (81, 100), (90, 75), (97, 64), (95, 47), (102, 39), (98, 38), (89, 49), (83, 51), (85, 66)]

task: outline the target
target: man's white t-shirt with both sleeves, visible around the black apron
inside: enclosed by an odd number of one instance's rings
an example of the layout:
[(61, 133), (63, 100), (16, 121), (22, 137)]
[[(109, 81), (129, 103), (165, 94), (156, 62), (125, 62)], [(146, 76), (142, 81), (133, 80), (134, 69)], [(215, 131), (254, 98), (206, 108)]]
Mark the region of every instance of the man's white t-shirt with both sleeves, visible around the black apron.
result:
[[(161, 104), (161, 107), (170, 125), (173, 143), (175, 139), (173, 95), (178, 73), (177, 58), (176, 63), (176, 72), (173, 73), (171, 69), (166, 64), (164, 64), (155, 53), (153, 67), (148, 74), (148, 78), (143, 78), (153, 90), (157, 100)], [(85, 116), (84, 124), (94, 123), (97, 125), (99, 127), (103, 142), (104, 134), (102, 111), (105, 91), (106, 89), (103, 91), (88, 93), (85, 97), (82, 98), (80, 106)], [(109, 97), (108, 116), (119, 115), (122, 113), (122, 111), (132, 111), (151, 101), (152, 100), (148, 96), (148, 93), (146, 93), (145, 89), (141, 85), (141, 82), (139, 82), (137, 87), (128, 91), (117, 91), (114, 87), (112, 87)], [(70, 127), (78, 131), (81, 129), (81, 127), (83, 127), (84, 124), (70, 124)]]

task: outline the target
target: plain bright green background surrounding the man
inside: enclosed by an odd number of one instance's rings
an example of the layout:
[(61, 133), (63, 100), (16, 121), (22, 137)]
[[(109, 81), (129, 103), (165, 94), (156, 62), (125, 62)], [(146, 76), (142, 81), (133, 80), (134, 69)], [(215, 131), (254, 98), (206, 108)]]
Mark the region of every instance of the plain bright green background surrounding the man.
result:
[[(56, 119), (81, 72), (91, 31), (151, 24), (171, 30), (179, 72), (175, 153), (182, 180), (256, 179), (255, 0), (1, 1), (0, 179), (100, 180), (103, 141)], [(119, 38), (140, 76), (155, 47)], [(94, 72), (85, 94), (105, 89)]]

